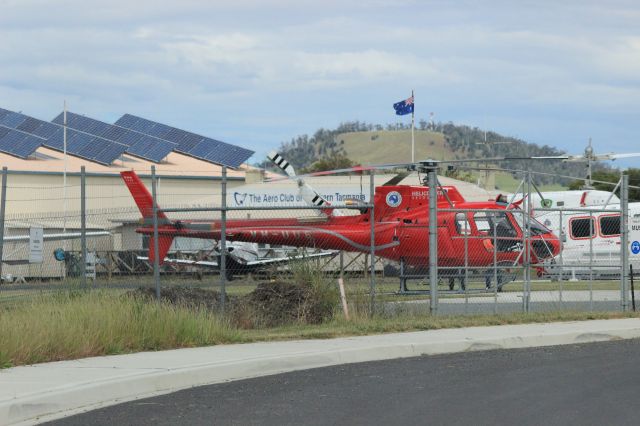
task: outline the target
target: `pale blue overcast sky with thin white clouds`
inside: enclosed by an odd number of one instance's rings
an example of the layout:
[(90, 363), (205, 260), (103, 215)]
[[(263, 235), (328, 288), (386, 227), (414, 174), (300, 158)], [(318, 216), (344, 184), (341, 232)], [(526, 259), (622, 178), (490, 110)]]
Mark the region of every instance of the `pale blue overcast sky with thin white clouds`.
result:
[(319, 127), (396, 122), (414, 89), (416, 119), (635, 152), (638, 22), (615, 0), (0, 0), (0, 107), (51, 120), (66, 99), (259, 161)]

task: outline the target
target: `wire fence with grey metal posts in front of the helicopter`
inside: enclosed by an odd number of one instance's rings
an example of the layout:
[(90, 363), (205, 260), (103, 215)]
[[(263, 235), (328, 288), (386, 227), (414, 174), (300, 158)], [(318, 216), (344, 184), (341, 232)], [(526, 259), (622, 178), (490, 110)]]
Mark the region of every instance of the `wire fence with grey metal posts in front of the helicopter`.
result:
[(0, 301), (181, 286), (215, 289), (224, 306), (260, 283), (321, 277), (352, 309), (386, 314), (630, 309), (628, 267), (640, 265), (624, 182), (620, 204), (565, 207), (523, 174), (522, 191), (474, 204), (427, 175), (437, 189), (371, 175), (343, 179), (359, 191), (336, 179), (325, 193), (256, 195), (226, 172), (184, 189), (155, 170), (126, 185), (83, 171), (35, 185), (5, 170)]

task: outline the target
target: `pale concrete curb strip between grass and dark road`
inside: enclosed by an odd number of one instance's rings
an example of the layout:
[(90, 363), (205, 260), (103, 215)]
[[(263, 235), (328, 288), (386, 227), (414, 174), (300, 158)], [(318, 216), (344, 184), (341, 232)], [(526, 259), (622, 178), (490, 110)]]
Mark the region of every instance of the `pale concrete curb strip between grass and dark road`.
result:
[(0, 371), (0, 424), (36, 424), (194, 386), (309, 368), (640, 338), (640, 319), (432, 330), (146, 352)]

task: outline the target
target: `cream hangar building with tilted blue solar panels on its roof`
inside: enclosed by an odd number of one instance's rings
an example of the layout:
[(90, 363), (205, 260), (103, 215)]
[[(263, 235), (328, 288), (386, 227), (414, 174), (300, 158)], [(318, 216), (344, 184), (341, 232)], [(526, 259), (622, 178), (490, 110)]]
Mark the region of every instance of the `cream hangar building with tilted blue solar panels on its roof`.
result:
[(88, 249), (104, 251), (144, 245), (134, 232), (140, 214), (121, 171), (136, 171), (151, 188), (155, 166), (159, 204), (179, 207), (219, 205), (222, 167), (229, 190), (244, 184), (251, 169), (244, 163), (253, 151), (192, 132), (129, 114), (115, 124), (66, 115), (64, 126), (64, 114), (47, 122), (0, 108), (0, 164), (7, 168), (3, 276), (59, 276), (53, 251), (79, 250), (77, 238), (45, 238), (44, 261), (29, 264), (28, 240), (21, 237), (30, 227), (42, 227), (45, 235), (80, 229), (83, 166), (87, 230), (109, 233), (89, 238)]

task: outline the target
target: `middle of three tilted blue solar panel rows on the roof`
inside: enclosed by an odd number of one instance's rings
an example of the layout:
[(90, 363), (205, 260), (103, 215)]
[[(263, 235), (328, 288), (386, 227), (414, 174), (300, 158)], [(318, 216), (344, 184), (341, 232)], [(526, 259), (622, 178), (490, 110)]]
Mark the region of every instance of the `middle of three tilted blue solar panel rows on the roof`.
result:
[[(64, 113), (60, 113), (53, 119), (54, 123), (62, 124), (64, 121)], [(137, 157), (144, 158), (145, 160), (154, 161), (156, 163), (162, 161), (171, 151), (173, 151), (175, 144), (147, 136), (143, 133), (135, 132), (131, 129), (120, 127), (113, 124), (107, 124), (100, 120), (85, 117), (72, 112), (67, 112), (67, 126), (69, 128), (79, 130), (81, 132), (99, 136), (103, 139), (108, 139), (113, 142), (126, 145), (126, 152)], [(144, 146), (139, 142), (142, 138), (148, 138)], [(94, 151), (84, 151), (94, 152)], [(106, 151), (111, 152), (111, 151)], [(98, 154), (96, 154), (98, 155)], [(99, 156), (107, 156), (107, 153), (102, 151)]]

